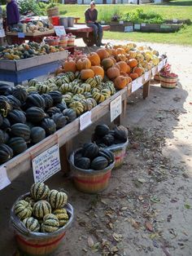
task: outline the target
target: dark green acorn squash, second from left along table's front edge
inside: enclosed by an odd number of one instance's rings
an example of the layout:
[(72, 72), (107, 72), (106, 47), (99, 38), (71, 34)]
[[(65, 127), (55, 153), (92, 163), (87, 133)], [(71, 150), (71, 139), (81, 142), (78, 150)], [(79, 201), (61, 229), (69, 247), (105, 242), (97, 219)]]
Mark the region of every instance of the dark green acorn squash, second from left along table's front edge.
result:
[(14, 137), (8, 141), (8, 146), (12, 148), (15, 156), (27, 150), (28, 146), (24, 138)]

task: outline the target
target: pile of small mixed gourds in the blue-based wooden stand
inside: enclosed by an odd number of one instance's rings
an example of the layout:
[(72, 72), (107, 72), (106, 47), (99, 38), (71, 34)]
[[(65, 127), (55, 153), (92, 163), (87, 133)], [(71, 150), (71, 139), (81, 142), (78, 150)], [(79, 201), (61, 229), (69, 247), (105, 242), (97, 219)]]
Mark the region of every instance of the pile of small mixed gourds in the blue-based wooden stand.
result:
[(64, 50), (61, 46), (41, 45), (37, 42), (0, 46), (0, 60), (23, 60)]

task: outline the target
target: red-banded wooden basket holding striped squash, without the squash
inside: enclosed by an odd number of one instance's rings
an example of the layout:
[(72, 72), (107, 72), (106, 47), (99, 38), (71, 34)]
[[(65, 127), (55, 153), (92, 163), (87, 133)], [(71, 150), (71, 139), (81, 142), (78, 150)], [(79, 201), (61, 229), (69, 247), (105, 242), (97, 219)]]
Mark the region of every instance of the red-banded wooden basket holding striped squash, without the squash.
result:
[[(28, 195), (29, 193), (20, 196), (17, 201)], [(59, 248), (67, 229), (72, 224), (72, 205), (68, 203), (65, 206), (69, 215), (68, 223), (64, 227), (59, 228), (58, 231), (52, 233), (29, 232), (20, 219), (14, 214), (14, 205), (11, 209), (11, 224), (15, 230), (15, 241), (20, 252), (28, 256), (46, 256), (53, 254), (55, 250)]]

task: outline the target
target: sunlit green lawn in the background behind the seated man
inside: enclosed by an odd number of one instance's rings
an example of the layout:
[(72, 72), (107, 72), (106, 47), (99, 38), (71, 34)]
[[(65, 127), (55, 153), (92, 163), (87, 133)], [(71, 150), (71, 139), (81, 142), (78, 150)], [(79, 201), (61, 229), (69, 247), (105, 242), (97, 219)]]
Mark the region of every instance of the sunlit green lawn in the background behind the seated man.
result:
[[(59, 5), (60, 13), (68, 11), (66, 16), (80, 17), (81, 22), (84, 22), (84, 11), (89, 6), (87, 5)], [(121, 13), (137, 8), (137, 5), (97, 5), (98, 14), (104, 8), (114, 11), (118, 9)], [(147, 4), (140, 5), (144, 11), (155, 11), (163, 15), (164, 19), (190, 19), (192, 20), (192, 1), (172, 1), (168, 4)], [(185, 26), (177, 33), (120, 33), (120, 32), (105, 32), (104, 38), (129, 40), (134, 42), (164, 42), (180, 45), (192, 46), (192, 25)]]

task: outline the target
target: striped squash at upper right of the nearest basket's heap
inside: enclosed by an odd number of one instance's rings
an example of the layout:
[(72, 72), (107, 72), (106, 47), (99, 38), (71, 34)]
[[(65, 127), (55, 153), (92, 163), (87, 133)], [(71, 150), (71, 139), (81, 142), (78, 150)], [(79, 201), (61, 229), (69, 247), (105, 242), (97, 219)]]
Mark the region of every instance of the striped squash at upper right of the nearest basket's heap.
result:
[(53, 209), (63, 207), (68, 201), (68, 195), (64, 192), (59, 192), (55, 189), (50, 190), (47, 201), (50, 202), (50, 205)]

